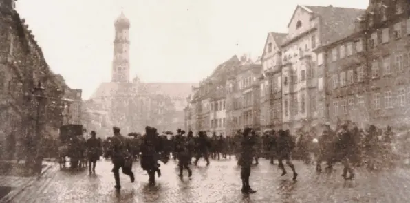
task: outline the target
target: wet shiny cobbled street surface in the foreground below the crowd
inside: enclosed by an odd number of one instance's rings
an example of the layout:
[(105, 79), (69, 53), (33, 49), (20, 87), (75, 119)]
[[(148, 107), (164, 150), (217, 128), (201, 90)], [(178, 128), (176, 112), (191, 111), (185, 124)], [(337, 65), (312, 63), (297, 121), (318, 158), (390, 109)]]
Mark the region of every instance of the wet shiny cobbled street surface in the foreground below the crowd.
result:
[(193, 177), (177, 177), (175, 162), (162, 165), (162, 176), (155, 186), (149, 186), (148, 176), (139, 167), (133, 169), (136, 182), (122, 175), (120, 193), (114, 190), (111, 163), (100, 161), (98, 175), (87, 171), (72, 174), (54, 167), (41, 180), (17, 195), (12, 202), (409, 202), (410, 169), (395, 169), (391, 173), (370, 173), (357, 169), (355, 180), (341, 177), (341, 166), (332, 173), (318, 174), (313, 165), (295, 162), (299, 173), (293, 182), (292, 173), (280, 177), (277, 165), (261, 160), (252, 168), (251, 186), (257, 193), (241, 195), (239, 167), (234, 160), (204, 161), (192, 167)]

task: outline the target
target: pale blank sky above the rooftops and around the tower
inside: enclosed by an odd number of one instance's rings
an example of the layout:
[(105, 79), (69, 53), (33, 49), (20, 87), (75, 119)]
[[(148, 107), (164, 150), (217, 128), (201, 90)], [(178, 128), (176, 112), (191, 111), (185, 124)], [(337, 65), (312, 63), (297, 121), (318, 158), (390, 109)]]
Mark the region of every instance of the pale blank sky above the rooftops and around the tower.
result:
[(233, 54), (261, 55), (297, 4), (366, 8), (367, 0), (18, 0), (47, 63), (89, 98), (111, 80), (114, 20), (131, 21), (131, 78), (197, 83)]

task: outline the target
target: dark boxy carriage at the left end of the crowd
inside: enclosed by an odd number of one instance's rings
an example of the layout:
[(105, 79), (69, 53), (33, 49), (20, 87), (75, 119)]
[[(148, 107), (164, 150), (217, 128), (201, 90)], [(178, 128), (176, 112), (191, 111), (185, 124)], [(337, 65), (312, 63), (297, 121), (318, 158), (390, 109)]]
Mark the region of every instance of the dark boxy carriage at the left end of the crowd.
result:
[(60, 144), (58, 145), (58, 164), (60, 169), (65, 168), (66, 158), (69, 158), (72, 169), (81, 169), (86, 162), (85, 138), (83, 125), (63, 125), (60, 127)]

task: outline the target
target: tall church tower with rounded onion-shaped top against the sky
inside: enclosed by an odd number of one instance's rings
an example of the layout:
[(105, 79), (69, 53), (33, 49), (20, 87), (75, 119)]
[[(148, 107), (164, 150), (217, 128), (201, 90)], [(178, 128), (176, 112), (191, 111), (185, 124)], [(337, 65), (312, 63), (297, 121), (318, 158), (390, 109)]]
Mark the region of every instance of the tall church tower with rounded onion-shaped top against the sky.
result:
[(121, 12), (114, 22), (116, 36), (114, 39), (114, 60), (112, 64), (111, 82), (129, 82), (129, 20)]

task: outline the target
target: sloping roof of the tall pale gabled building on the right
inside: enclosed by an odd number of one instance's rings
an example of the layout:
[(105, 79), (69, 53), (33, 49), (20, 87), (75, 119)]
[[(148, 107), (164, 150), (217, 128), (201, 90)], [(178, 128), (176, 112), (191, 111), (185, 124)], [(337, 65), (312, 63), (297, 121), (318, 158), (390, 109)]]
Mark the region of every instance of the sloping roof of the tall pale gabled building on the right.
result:
[(334, 43), (354, 33), (355, 21), (365, 10), (333, 6), (305, 6), (321, 17), (322, 45)]

